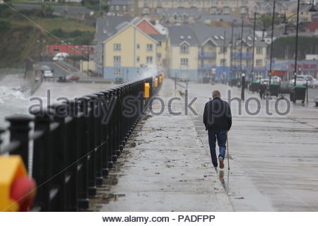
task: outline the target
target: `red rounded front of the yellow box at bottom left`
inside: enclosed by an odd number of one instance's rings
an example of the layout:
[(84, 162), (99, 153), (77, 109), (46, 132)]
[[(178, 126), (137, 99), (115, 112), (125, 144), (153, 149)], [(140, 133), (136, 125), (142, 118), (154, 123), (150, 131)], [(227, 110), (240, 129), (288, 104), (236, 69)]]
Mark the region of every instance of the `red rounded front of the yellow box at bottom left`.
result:
[(20, 205), (19, 211), (29, 211), (36, 194), (36, 184), (30, 177), (19, 177), (11, 186), (11, 198)]

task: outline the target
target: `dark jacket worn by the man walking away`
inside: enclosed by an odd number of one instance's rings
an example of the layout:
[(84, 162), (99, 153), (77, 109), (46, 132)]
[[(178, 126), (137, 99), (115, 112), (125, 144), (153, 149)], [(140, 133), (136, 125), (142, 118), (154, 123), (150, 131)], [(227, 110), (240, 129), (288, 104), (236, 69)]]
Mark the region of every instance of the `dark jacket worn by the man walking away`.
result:
[(232, 126), (232, 114), (228, 102), (215, 97), (206, 103), (204, 107), (204, 125), (206, 129), (230, 130)]

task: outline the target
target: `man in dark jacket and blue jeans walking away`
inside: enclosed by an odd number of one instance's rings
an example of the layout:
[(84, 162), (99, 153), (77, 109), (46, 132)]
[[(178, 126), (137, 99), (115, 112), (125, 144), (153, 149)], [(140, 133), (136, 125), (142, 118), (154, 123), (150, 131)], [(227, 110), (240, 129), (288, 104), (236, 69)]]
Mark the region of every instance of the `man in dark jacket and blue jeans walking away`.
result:
[[(224, 159), (226, 152), (226, 133), (232, 126), (232, 115), (230, 105), (228, 102), (220, 99), (220, 92), (218, 90), (212, 93), (213, 100), (206, 103), (204, 107), (204, 125), (208, 130), (208, 144), (210, 145), (210, 152), (213, 166), (218, 167), (220, 162), (220, 169), (224, 168)], [(220, 148), (218, 160), (216, 158), (216, 140)]]

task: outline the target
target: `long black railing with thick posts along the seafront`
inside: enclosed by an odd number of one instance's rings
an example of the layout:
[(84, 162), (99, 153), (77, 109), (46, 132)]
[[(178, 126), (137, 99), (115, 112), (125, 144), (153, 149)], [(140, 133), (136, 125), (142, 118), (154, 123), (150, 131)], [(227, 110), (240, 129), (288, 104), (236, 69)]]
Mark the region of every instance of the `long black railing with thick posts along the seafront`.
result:
[[(32, 177), (37, 182), (33, 211), (89, 208), (88, 198), (96, 196), (97, 186), (114, 167), (146, 110), (149, 98), (141, 98), (144, 84), (150, 85), (150, 97), (160, 88), (155, 78), (36, 109), (30, 115), (6, 118), (10, 122), (10, 143), (0, 153), (20, 155), (27, 169), (32, 162)], [(123, 114), (126, 98), (130, 98), (129, 106), (134, 110)], [(0, 134), (3, 132), (0, 130)]]

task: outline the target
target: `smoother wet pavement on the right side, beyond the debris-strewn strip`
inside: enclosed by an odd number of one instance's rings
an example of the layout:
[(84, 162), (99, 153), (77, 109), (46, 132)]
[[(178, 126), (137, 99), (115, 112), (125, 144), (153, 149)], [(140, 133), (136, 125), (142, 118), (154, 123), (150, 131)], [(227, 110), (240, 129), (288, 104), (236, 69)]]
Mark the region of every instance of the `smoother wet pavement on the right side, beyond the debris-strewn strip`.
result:
[[(204, 103), (213, 90), (220, 90), (228, 100), (228, 89), (231, 98), (240, 97), (238, 88), (227, 85), (189, 84), (189, 95), (198, 97), (195, 109), (199, 115), (192, 120), (206, 149), (208, 139), (201, 123)], [(257, 97), (257, 93), (245, 92), (245, 100), (249, 97)], [(312, 100), (309, 107), (298, 102), (281, 116), (275, 113), (274, 102), (276, 98), (269, 101), (273, 115), (266, 115), (266, 101), (261, 100), (260, 114), (255, 116), (248, 115), (244, 107), (239, 115), (236, 102), (231, 104), (228, 196), (236, 211), (317, 211), (318, 109)], [(254, 112), (255, 102), (249, 106)]]

